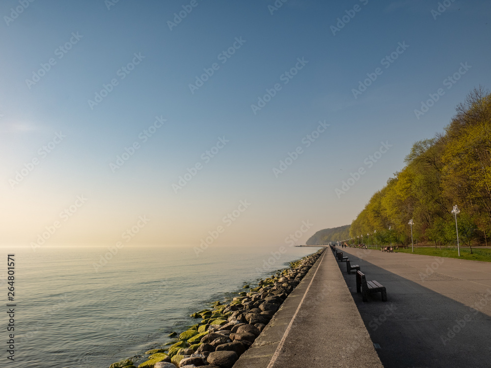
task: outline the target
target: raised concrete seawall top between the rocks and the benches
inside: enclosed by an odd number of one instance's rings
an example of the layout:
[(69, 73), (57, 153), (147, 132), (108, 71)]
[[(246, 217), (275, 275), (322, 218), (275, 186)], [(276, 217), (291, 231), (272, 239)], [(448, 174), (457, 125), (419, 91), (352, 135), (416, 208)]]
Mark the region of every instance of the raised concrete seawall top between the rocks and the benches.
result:
[(382, 368), (329, 248), (234, 365), (303, 367)]

